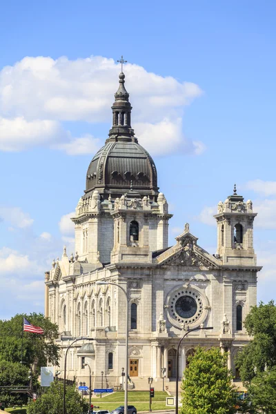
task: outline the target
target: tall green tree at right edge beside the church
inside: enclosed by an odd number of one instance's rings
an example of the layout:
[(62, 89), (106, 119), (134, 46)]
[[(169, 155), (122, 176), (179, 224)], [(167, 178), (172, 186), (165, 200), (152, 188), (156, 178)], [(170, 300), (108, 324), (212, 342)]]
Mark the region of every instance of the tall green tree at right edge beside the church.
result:
[(244, 326), (252, 341), (237, 355), (235, 364), (243, 382), (276, 366), (276, 306), (273, 301), (254, 306)]

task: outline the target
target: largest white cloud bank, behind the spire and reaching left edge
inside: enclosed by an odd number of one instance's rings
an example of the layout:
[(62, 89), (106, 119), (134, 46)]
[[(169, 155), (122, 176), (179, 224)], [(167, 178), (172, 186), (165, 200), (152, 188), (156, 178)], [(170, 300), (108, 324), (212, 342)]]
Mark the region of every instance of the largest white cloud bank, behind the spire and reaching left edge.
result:
[[(189, 142), (181, 132), (183, 108), (202, 94), (199, 86), (161, 77), (127, 64), (132, 124), (141, 144), (163, 155), (181, 148), (199, 155), (200, 141)], [(118, 85), (119, 65), (113, 59), (89, 57), (25, 57), (0, 71), (0, 150), (19, 151), (48, 145), (68, 155), (94, 153), (99, 140), (91, 135), (71, 137), (62, 121), (108, 122)], [(168, 145), (169, 140), (171, 141)]]

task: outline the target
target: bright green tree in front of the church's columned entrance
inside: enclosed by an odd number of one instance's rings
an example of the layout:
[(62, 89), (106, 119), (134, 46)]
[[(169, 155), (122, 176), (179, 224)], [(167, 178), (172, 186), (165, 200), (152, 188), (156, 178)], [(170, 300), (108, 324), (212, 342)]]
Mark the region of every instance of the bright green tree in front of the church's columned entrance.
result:
[(188, 358), (182, 388), (182, 414), (232, 414), (235, 387), (227, 368), (228, 355), (219, 348), (206, 351), (200, 346)]

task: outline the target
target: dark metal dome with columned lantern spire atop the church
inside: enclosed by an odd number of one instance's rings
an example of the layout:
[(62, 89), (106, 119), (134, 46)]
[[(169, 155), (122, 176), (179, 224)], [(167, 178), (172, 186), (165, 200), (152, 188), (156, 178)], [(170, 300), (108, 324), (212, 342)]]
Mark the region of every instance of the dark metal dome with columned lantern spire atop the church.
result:
[[(157, 170), (148, 152), (138, 144), (131, 128), (131, 109), (124, 86), (125, 75), (119, 75), (119, 88), (112, 105), (112, 128), (106, 145), (90, 162), (86, 175), (86, 195), (97, 189), (103, 199), (120, 197), (130, 186), (141, 197), (158, 195)], [(86, 195), (84, 197), (86, 197)]]

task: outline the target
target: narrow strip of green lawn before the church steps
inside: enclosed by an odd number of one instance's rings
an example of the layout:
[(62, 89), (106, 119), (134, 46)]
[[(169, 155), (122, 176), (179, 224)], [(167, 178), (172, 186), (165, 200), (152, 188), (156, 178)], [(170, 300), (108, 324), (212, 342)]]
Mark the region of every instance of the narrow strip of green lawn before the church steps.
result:
[[(103, 397), (103, 395), (106, 395)], [(92, 398), (93, 402), (124, 402), (124, 391), (115, 391), (114, 393), (102, 394), (102, 398)], [(165, 391), (155, 391), (155, 397), (152, 398), (152, 402), (166, 402), (168, 394)], [(148, 401), (150, 398), (150, 391), (128, 391), (128, 402), (134, 401)]]

